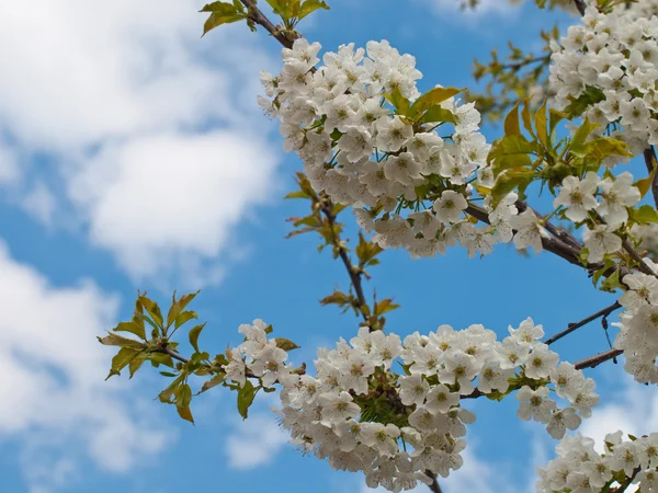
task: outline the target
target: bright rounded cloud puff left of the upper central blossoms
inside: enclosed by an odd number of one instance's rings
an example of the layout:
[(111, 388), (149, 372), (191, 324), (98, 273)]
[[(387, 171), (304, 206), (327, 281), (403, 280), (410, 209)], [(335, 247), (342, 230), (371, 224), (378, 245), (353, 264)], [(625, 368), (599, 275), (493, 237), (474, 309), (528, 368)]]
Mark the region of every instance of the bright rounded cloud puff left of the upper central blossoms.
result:
[[(232, 131), (158, 135), (109, 147), (76, 172), (70, 194), (87, 211), (94, 243), (117, 254), (139, 282), (168, 277), (171, 265), (201, 279), (231, 231), (272, 191), (273, 150)], [(179, 287), (181, 287), (179, 285)]]

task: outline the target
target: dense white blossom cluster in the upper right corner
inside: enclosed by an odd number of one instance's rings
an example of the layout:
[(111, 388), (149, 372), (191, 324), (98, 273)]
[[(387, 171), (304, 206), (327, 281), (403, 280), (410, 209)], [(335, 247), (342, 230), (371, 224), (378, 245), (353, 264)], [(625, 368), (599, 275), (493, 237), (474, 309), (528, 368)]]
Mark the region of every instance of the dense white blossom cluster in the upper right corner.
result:
[[(653, 3), (611, 13), (588, 8), (581, 25), (553, 43), (549, 84), (559, 110), (580, 112), (590, 122), (611, 126), (612, 136), (634, 154), (658, 144), (658, 21), (644, 16)], [(576, 110), (578, 108), (578, 111)], [(617, 158), (609, 158), (608, 164)]]

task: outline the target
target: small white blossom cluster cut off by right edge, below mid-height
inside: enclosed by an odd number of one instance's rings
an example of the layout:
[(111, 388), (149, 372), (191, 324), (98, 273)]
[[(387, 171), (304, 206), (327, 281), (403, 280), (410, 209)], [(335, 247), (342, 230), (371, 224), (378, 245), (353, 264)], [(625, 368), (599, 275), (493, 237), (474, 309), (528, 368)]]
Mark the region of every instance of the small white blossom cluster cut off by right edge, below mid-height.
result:
[[(658, 274), (658, 264), (644, 259), (649, 268)], [(614, 342), (624, 351), (624, 368), (642, 383), (658, 383), (658, 277), (640, 272), (623, 277), (627, 290), (621, 296), (620, 305), (625, 310), (621, 322), (614, 323), (620, 333)]]

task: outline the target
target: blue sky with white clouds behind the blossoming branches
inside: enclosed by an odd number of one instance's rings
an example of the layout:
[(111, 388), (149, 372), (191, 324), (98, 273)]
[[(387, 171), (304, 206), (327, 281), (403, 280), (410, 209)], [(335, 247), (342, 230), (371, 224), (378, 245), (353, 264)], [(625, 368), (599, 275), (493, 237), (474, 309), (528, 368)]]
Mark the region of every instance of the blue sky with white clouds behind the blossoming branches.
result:
[[(306, 23), (325, 49), (388, 39), (417, 57), (421, 90), (473, 85), (474, 57), (507, 41), (535, 46), (566, 15), (485, 2), (465, 15), (456, 0), (329, 1)], [(350, 314), (318, 299), (347, 288), (341, 265), (310, 236), (285, 240), (285, 218), (306, 210), (282, 200), (299, 163), (281, 150), (256, 104), (258, 72), (276, 71), (279, 47), (243, 25), (198, 38), (196, 0), (4, 2), (0, 7), (0, 491), (8, 493), (196, 490), (361, 492), (286, 445), (257, 402), (241, 422), (235, 394), (208, 392), (196, 426), (154, 398), (163, 381), (145, 368), (104, 382), (111, 352), (95, 335), (125, 319), (136, 290), (166, 303), (171, 290), (203, 288), (194, 309), (202, 342), (223, 351), (237, 326), (262, 318), (315, 348), (354, 334)], [(485, 128), (494, 139), (496, 128)], [(348, 231), (355, 232), (349, 213)], [(352, 234), (353, 237), (353, 234)], [(442, 323), (483, 323), (500, 335), (526, 317), (547, 333), (610, 305), (578, 268), (544, 253), (498, 248), (483, 260), (452, 250), (411, 261), (386, 252), (368, 290), (401, 309), (401, 335)], [(576, 360), (608, 348), (592, 324), (556, 344)], [(590, 371), (603, 403), (583, 432), (658, 425), (658, 400), (620, 366)], [(631, 405), (631, 403), (634, 403)], [(447, 492), (532, 491), (534, 468), (554, 444), (515, 417), (517, 402), (472, 402), (464, 468)]]

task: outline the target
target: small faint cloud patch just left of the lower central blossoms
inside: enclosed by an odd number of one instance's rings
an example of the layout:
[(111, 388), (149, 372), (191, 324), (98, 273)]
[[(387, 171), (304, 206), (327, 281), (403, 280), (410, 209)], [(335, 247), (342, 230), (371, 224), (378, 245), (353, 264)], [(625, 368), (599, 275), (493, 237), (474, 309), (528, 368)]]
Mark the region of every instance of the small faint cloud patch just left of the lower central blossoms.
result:
[(272, 463), (290, 436), (279, 427), (274, 413), (250, 413), (246, 421), (235, 422), (226, 439), (228, 467), (248, 470)]

